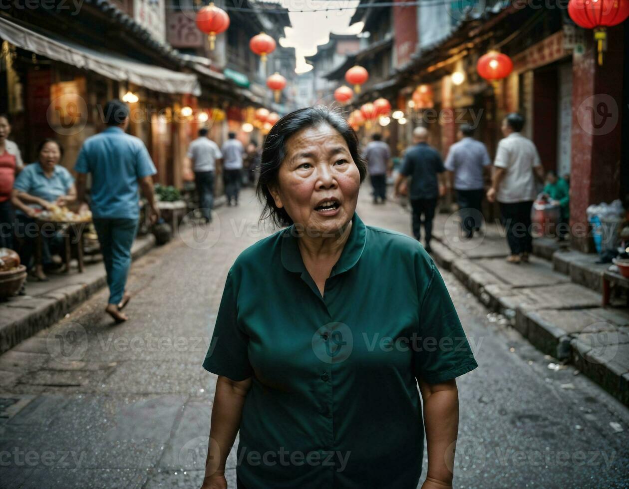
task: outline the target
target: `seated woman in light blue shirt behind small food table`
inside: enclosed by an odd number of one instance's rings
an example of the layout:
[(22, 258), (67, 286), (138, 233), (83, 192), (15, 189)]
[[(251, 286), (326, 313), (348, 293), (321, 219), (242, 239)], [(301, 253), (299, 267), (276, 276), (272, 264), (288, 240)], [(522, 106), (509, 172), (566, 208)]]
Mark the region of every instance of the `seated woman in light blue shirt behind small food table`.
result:
[[(41, 209), (50, 209), (52, 204), (66, 206), (76, 199), (74, 178), (70, 172), (58, 163), (64, 155), (64, 148), (53, 139), (43, 140), (37, 148), (39, 160), (27, 165), (13, 184), (11, 202), (16, 207), (16, 236), (23, 239), (20, 259), (27, 267), (36, 244), (36, 233), (29, 231), (35, 226), (35, 216)], [(32, 224), (31, 224), (32, 223)], [(52, 265), (52, 253), (58, 247), (56, 233), (42, 230), (42, 261), (36, 264), (33, 276), (48, 280), (42, 265)]]

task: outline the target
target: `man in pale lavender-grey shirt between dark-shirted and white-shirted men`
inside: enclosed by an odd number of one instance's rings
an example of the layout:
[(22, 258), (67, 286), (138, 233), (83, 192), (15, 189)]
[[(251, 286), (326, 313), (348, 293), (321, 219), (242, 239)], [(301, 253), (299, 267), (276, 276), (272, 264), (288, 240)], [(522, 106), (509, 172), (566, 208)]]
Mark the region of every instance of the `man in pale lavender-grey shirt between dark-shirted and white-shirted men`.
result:
[(461, 229), (464, 237), (468, 239), (474, 236), (475, 230), (481, 228), (483, 168), (491, 165), (487, 148), (472, 136), (474, 128), (469, 124), (462, 124), (457, 133), (459, 142), (450, 146), (445, 160), (450, 184), (457, 192)]

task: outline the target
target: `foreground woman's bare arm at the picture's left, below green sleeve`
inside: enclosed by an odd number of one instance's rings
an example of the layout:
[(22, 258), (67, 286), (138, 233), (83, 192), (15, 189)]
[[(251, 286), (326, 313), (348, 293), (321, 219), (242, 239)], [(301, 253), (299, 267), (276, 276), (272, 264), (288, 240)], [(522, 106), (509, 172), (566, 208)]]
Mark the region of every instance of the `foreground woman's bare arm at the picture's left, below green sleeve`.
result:
[(240, 429), (242, 407), (250, 388), (251, 378), (236, 382), (219, 375), (216, 380), (202, 489), (226, 487), (221, 485), (225, 476), (225, 463)]

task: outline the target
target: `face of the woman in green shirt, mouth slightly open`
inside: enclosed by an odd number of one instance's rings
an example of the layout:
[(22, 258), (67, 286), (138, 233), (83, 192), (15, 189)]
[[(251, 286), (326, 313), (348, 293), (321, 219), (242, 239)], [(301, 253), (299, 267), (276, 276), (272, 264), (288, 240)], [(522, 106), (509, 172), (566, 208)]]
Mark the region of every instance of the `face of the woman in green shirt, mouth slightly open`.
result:
[(352, 219), (360, 173), (343, 136), (328, 124), (291, 136), (277, 182), (270, 189), (276, 206), (308, 236), (337, 235)]

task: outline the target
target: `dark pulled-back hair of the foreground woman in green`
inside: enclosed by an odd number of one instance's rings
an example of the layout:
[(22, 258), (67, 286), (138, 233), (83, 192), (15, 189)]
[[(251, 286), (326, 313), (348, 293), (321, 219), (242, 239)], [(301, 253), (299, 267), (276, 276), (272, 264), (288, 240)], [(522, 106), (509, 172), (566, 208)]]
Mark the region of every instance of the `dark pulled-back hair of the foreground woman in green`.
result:
[(283, 207), (278, 209), (270, 194), (269, 186), (277, 185), (279, 168), (286, 157), (286, 144), (291, 136), (303, 129), (327, 124), (343, 136), (347, 147), (360, 173), (360, 182), (365, 179), (367, 166), (359, 153), (359, 141), (352, 126), (343, 116), (326, 106), (306, 107), (282, 117), (274, 124), (262, 146), (262, 162), (260, 163), (260, 178), (256, 194), (264, 204), (260, 219), (270, 219), (281, 228), (290, 226), (292, 219)]

